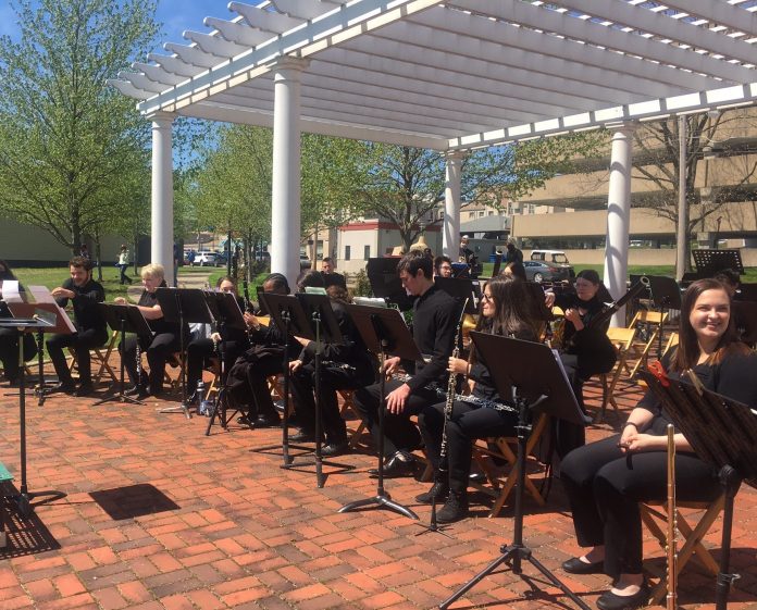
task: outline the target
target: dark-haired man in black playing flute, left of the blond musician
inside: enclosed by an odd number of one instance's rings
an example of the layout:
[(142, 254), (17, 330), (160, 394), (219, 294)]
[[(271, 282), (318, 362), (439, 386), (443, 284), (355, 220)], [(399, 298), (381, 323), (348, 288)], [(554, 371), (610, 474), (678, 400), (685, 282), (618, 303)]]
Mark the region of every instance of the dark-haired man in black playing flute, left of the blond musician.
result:
[[(89, 350), (102, 347), (108, 341), (106, 319), (97, 308), (97, 303), (106, 300), (106, 290), (101, 284), (92, 279), (91, 263), (88, 259), (74, 257), (69, 261), (69, 271), (71, 277), (62, 286), (53, 288), (50, 294), (62, 308), (71, 300), (76, 333), (52, 335), (46, 345), (58, 375), (59, 384), (55, 390), (76, 396), (89, 396), (94, 391)], [(63, 348), (66, 347), (74, 348), (76, 353), (79, 372), (78, 388), (74, 385), (63, 354)]]

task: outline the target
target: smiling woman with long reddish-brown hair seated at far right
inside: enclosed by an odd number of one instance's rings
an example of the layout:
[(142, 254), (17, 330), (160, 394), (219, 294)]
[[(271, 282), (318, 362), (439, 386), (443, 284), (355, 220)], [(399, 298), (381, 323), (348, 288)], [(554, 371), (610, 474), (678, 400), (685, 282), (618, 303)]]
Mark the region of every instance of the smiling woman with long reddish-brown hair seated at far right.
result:
[[(681, 343), (662, 364), (671, 378), (691, 369), (705, 388), (756, 404), (757, 354), (736, 339), (730, 312), (731, 300), (722, 284), (715, 279), (692, 284), (683, 296)], [(578, 543), (590, 548), (566, 561), (562, 569), (613, 578), (612, 588), (597, 601), (601, 610), (630, 610), (648, 599), (638, 502), (666, 498), (668, 423), (659, 401), (648, 391), (620, 435), (575, 449), (562, 462), (560, 480), (570, 499)], [(715, 469), (692, 452), (680, 433), (675, 447), (678, 498), (716, 499), (721, 486)]]

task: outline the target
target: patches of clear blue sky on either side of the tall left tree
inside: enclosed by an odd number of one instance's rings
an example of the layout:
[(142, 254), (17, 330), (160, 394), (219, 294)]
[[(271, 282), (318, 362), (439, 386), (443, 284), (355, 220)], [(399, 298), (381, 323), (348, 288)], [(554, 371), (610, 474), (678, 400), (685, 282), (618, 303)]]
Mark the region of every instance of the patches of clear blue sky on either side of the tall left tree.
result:
[[(210, 32), (202, 20), (207, 16), (231, 18), (236, 16), (228, 9), (228, 0), (158, 0), (157, 20), (163, 24), (163, 34), (153, 52), (162, 51), (163, 42), (186, 42), (182, 32), (194, 29)], [(15, 12), (10, 0), (0, 0), (0, 35), (15, 38), (18, 35)]]

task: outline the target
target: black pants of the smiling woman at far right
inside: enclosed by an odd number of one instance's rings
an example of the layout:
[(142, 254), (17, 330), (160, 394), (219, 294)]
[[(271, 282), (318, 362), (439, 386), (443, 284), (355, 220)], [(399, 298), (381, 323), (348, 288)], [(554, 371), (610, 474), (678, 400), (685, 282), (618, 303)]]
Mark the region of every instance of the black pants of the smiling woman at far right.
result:
[[(605, 573), (642, 573), (642, 518), (638, 502), (663, 500), (668, 490), (666, 451), (624, 455), (619, 435), (571, 451), (560, 481), (568, 493), (579, 545), (605, 545)], [(721, 488), (715, 469), (694, 453), (675, 453), (680, 500), (711, 501)]]

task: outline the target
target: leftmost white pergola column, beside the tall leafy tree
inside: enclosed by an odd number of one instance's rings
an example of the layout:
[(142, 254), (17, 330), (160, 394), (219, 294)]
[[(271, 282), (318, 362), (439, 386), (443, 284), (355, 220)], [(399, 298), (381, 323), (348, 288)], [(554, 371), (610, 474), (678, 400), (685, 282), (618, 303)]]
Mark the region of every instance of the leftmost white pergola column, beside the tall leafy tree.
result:
[(152, 234), (150, 262), (165, 267), (172, 286), (173, 271), (173, 114), (159, 112), (152, 120)]

